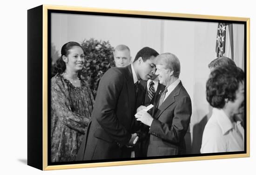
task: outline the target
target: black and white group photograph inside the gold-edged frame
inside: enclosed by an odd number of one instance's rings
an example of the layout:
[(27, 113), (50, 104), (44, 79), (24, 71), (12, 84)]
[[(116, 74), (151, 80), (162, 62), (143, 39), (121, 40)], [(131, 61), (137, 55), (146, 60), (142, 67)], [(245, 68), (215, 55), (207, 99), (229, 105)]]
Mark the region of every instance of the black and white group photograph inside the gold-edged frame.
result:
[(49, 165), (247, 153), (246, 22), (48, 14)]

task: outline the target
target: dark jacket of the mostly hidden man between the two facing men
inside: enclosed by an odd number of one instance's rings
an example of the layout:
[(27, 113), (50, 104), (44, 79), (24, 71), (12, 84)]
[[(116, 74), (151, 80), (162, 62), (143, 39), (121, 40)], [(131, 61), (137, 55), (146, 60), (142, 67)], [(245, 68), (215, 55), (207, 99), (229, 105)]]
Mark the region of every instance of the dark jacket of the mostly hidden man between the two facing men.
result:
[[(152, 100), (149, 99), (148, 97), (148, 88), (147, 88), (147, 81), (143, 81), (141, 80), (141, 85), (144, 89), (144, 93), (145, 93), (145, 98), (144, 98), (144, 106), (148, 106), (150, 104), (154, 105), (154, 107), (158, 104), (158, 101), (160, 99), (161, 96), (161, 92), (164, 90), (165, 86), (158, 83), (157, 89), (155, 91), (155, 95), (152, 98)], [(154, 109), (153, 107), (153, 109)], [(148, 111), (148, 113), (150, 115), (152, 115), (153, 109), (151, 109), (150, 111)], [(146, 157), (147, 156), (147, 152), (148, 152), (148, 142), (149, 142), (149, 126), (148, 125), (144, 125), (141, 123), (141, 137), (139, 137), (139, 142), (138, 144), (135, 146), (135, 157)]]

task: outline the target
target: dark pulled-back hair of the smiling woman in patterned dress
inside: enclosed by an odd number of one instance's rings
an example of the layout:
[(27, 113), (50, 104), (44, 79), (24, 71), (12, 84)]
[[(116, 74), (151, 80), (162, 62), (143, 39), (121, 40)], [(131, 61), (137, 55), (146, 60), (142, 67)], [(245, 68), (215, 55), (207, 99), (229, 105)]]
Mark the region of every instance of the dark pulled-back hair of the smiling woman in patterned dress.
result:
[(67, 56), (69, 54), (68, 50), (72, 49), (72, 47), (74, 46), (78, 46), (83, 49), (79, 43), (74, 41), (70, 41), (61, 47), (61, 56), (56, 60), (56, 63), (54, 64), (54, 75), (56, 75), (57, 73), (62, 74), (65, 71), (66, 63), (63, 61), (62, 56)]

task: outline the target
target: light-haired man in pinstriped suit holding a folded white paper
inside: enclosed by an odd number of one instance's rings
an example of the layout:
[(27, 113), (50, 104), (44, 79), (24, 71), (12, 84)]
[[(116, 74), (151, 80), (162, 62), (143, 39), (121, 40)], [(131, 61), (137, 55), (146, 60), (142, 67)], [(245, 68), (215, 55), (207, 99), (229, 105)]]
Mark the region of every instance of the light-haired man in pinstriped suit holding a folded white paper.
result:
[(189, 128), (192, 106), (189, 94), (179, 79), (180, 62), (171, 53), (157, 56), (156, 75), (166, 86), (155, 108), (154, 117), (141, 110), (138, 121), (150, 126), (147, 156), (186, 154), (184, 136)]

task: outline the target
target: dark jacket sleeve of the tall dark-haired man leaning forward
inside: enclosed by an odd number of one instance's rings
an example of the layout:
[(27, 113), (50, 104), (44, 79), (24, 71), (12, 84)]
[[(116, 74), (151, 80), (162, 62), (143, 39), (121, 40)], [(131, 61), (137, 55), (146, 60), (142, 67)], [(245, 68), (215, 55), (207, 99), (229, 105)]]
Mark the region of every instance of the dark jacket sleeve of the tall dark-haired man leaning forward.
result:
[(118, 69), (109, 69), (101, 78), (95, 100), (93, 117), (121, 147), (127, 144), (131, 134), (119, 123), (116, 116), (117, 101), (125, 77)]

